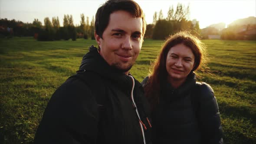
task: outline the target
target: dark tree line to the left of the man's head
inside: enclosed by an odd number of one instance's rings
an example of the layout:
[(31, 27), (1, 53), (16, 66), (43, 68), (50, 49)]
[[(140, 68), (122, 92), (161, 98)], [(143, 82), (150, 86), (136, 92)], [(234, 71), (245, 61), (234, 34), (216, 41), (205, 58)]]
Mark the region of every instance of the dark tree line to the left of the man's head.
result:
[(76, 40), (77, 38), (94, 39), (94, 17), (89, 23), (89, 17), (82, 13), (80, 25), (74, 25), (72, 15), (65, 14), (63, 26), (60, 26), (59, 17), (44, 18), (44, 25), (38, 19), (33, 23), (23, 23), (16, 20), (0, 20), (0, 37), (34, 36), (39, 41)]

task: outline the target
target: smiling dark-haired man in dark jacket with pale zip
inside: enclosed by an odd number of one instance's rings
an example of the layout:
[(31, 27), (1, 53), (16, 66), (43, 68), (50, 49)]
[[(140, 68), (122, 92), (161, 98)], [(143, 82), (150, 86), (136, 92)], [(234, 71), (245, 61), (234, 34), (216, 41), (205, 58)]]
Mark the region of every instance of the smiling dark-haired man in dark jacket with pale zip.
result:
[(43, 114), (36, 144), (150, 143), (148, 103), (128, 72), (146, 25), (132, 0), (109, 0), (95, 16), (95, 39), (77, 75), (62, 84)]

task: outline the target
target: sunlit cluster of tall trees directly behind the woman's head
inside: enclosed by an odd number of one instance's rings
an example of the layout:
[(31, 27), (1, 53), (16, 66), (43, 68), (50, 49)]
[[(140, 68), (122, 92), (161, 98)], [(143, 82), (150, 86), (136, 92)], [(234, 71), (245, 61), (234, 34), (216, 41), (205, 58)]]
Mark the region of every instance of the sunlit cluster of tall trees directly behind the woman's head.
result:
[(199, 36), (200, 28), (199, 22), (188, 20), (190, 15), (189, 6), (185, 7), (178, 3), (176, 10), (174, 7), (169, 7), (167, 17), (164, 18), (162, 10), (159, 13), (155, 12), (153, 15), (153, 23), (147, 25), (145, 37), (152, 39), (165, 39), (169, 35), (179, 31), (190, 31), (190, 33)]

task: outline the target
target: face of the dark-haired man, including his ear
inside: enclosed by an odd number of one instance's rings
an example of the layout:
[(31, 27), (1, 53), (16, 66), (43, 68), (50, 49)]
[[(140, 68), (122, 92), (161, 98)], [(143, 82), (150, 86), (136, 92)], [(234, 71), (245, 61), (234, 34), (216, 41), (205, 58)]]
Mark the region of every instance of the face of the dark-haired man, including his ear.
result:
[(118, 10), (110, 14), (102, 38), (95, 33), (100, 55), (109, 65), (127, 72), (135, 63), (142, 46), (142, 19)]

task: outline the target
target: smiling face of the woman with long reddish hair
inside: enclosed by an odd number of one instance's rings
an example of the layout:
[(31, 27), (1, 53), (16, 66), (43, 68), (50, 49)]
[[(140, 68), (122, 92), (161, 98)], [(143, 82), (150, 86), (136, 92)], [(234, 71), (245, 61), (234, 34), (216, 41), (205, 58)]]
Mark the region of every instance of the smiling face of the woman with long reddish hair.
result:
[(166, 59), (168, 81), (184, 82), (194, 67), (195, 56), (184, 44), (177, 44), (169, 50)]

